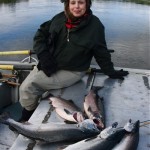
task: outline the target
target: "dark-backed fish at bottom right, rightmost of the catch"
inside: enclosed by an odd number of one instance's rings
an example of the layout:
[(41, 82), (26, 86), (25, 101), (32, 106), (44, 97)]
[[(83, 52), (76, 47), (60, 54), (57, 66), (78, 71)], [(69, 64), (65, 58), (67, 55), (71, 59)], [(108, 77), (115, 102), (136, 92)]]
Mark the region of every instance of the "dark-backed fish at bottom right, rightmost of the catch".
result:
[(140, 122), (137, 121), (134, 124), (132, 132), (127, 133), (113, 150), (137, 150), (139, 143), (139, 124)]

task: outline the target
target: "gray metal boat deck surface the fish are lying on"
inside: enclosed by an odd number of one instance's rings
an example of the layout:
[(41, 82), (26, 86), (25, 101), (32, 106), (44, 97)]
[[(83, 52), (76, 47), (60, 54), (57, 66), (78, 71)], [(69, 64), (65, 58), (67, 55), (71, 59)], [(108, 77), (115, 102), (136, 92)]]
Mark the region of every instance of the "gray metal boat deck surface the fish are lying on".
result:
[[(126, 69), (127, 70), (127, 69)], [(117, 121), (123, 126), (130, 118), (133, 121), (150, 120), (150, 71), (128, 69), (130, 74), (124, 81), (109, 79), (103, 74), (96, 75), (95, 86), (104, 86), (99, 96), (104, 98), (106, 127)], [(61, 95), (65, 99), (72, 99), (83, 110), (87, 76), (77, 84), (63, 90), (51, 91), (54, 95)], [(47, 122), (62, 122), (55, 113), (49, 113), (48, 99), (42, 100), (30, 118), (29, 122), (41, 124), (45, 118)], [(58, 133), (59, 134), (59, 133)], [(41, 143), (19, 135), (10, 150), (57, 150), (67, 143)], [(150, 125), (140, 128), (138, 150), (150, 149)]]

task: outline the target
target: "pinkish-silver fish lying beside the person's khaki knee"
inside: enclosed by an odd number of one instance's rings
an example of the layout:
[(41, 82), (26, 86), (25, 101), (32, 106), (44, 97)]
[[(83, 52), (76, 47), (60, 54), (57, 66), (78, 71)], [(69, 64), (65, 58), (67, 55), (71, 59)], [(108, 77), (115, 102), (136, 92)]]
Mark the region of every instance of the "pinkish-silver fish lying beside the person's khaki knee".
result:
[(84, 114), (72, 100), (65, 100), (61, 97), (50, 97), (50, 103), (56, 113), (68, 123), (77, 123), (85, 120)]

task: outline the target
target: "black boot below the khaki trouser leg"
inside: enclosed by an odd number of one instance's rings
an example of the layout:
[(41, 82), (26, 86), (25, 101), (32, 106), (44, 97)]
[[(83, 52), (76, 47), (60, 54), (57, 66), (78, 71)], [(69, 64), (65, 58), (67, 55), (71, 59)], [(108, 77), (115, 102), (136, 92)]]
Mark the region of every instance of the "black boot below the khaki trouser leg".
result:
[(25, 108), (23, 108), (22, 110), (22, 116), (21, 118), (18, 120), (18, 122), (26, 122), (29, 120), (29, 118), (31, 117), (31, 115), (33, 114), (34, 110), (26, 110)]

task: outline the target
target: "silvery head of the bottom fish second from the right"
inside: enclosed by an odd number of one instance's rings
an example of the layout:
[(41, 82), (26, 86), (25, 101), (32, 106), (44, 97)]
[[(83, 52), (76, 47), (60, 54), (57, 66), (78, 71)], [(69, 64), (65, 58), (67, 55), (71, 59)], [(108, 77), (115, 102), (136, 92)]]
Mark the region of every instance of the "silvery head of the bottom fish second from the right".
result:
[(100, 138), (102, 139), (106, 139), (107, 137), (109, 137), (110, 135), (114, 134), (117, 131), (117, 122), (114, 122), (111, 126), (105, 128), (104, 130), (101, 131), (100, 133)]

